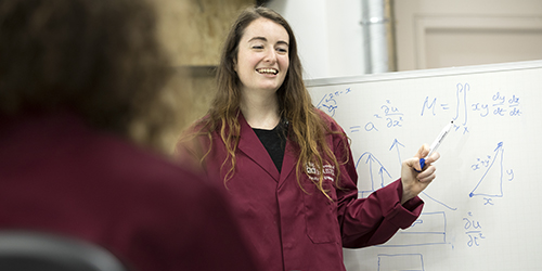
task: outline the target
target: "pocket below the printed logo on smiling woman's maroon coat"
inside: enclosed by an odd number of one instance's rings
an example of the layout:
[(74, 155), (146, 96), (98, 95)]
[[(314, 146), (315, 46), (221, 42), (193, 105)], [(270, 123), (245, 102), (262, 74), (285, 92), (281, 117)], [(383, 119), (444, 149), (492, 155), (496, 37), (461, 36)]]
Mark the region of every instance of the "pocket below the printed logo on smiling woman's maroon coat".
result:
[(339, 227), (337, 220), (337, 194), (333, 182), (324, 180), (324, 189), (327, 198), (317, 185), (309, 182), (305, 185), (307, 193), (304, 193), (305, 220), (307, 235), (314, 244), (339, 242)]

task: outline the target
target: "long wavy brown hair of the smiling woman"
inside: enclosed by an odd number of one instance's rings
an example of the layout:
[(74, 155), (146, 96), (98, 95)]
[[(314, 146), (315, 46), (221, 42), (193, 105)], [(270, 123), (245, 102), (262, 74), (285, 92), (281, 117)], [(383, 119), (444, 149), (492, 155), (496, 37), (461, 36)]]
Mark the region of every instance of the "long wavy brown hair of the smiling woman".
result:
[[(207, 116), (195, 124), (196, 127), (202, 128), (197, 134), (206, 134), (209, 139), (215, 131), (220, 134), (228, 151), (227, 160), (230, 158), (231, 162), (231, 168), (225, 175), (224, 181), (227, 181), (235, 171), (235, 152), (241, 130), (237, 115), (240, 114), (242, 82), (234, 70), (234, 63), (237, 59), (238, 43), (246, 27), (260, 17), (269, 18), (283, 26), (289, 36), (289, 67), (284, 82), (276, 91), (276, 95), (280, 115), (289, 122), (288, 139), (295, 143), (294, 145), (299, 152), (296, 165), (297, 180), (305, 191), (299, 181), (299, 175), (300, 171), (307, 173), (306, 166), (313, 164), (320, 175), (319, 180), (313, 182), (320, 191), (331, 198), (323, 185), (323, 165), (326, 163), (335, 165), (337, 169), (336, 177), (338, 177), (339, 162), (325, 139), (325, 136), (333, 131), (330, 130), (324, 119), (319, 115), (318, 109), (312, 105), (310, 94), (305, 87), (301, 62), (297, 54), (297, 42), (292, 27), (286, 20), (271, 9), (263, 7), (248, 8), (241, 13), (233, 24), (224, 42), (220, 65), (217, 69), (217, 94)], [(207, 154), (210, 152), (210, 147)], [(202, 160), (204, 158), (205, 155)], [(224, 160), (224, 164), (227, 160)]]

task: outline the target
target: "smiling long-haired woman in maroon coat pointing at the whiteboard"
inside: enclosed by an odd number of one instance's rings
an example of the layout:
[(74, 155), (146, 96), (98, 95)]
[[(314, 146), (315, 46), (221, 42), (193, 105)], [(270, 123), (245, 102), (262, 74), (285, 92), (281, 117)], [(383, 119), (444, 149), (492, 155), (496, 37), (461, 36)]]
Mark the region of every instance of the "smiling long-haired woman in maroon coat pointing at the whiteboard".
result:
[(176, 151), (223, 182), (264, 270), (345, 270), (343, 247), (384, 243), (417, 218), (438, 157), (416, 172), (422, 147), (401, 181), (358, 199), (348, 139), (312, 105), (281, 15), (245, 10), (224, 44), (214, 103)]

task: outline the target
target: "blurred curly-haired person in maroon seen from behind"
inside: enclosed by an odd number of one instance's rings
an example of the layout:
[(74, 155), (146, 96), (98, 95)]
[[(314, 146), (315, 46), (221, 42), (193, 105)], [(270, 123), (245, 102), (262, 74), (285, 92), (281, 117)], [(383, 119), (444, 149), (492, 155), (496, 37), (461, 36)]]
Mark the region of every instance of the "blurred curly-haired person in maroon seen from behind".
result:
[(221, 192), (152, 147), (177, 121), (156, 20), (143, 0), (0, 2), (0, 230), (139, 271), (256, 270)]

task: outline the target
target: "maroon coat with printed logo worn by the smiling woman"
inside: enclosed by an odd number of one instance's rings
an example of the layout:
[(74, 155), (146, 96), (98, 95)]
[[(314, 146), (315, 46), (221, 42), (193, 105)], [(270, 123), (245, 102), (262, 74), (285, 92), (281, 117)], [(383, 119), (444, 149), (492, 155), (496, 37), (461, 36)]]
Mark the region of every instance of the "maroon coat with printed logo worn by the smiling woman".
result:
[[(319, 113), (333, 131), (343, 131), (325, 113)], [(223, 184), (231, 164), (228, 159), (222, 165), (227, 151), (218, 132), (212, 134), (212, 147), (204, 167), (210, 179), (222, 183), (230, 194), (242, 230), (251, 249), (264, 263), (264, 270), (345, 270), (343, 247), (382, 244), (400, 228), (410, 227), (420, 216), (423, 202), (418, 197), (400, 204), (400, 180), (367, 198), (358, 199), (358, 176), (343, 136), (327, 137), (336, 157), (349, 156), (348, 163), (340, 166), (338, 182), (341, 190), (336, 189), (332, 181), (337, 170), (324, 168), (325, 188), (331, 191), (332, 202), (302, 172), (299, 176), (306, 192), (300, 189), (295, 169), (296, 149), (292, 141), (286, 143), (279, 172), (241, 113), (238, 120), (241, 139), (233, 177)], [(204, 145), (209, 143), (205, 137), (201, 141)], [(179, 155), (186, 152), (186, 147), (178, 144)], [(309, 169), (313, 168), (309, 165)]]

